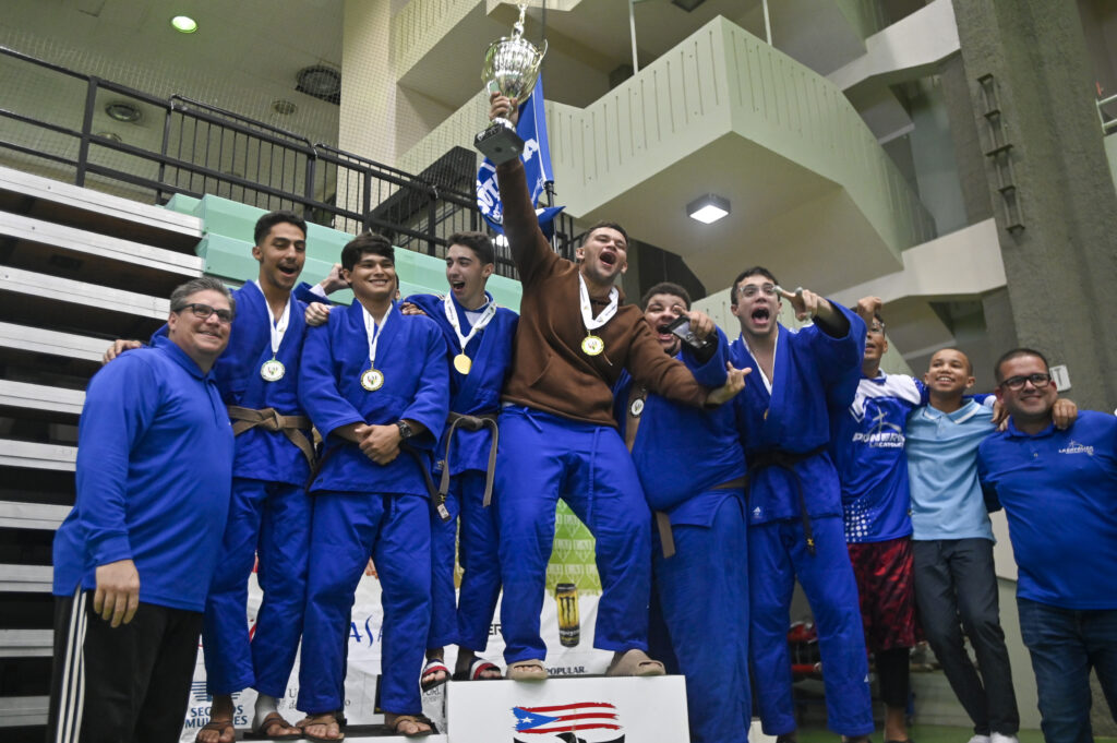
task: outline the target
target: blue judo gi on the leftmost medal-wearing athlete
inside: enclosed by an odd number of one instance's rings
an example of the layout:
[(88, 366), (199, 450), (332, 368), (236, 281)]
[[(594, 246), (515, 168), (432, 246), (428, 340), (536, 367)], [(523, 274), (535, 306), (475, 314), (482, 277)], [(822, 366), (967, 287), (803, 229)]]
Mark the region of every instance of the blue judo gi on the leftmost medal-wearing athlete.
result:
[[(273, 408), (279, 416), (303, 416), (298, 403), (298, 361), (306, 332), (306, 305), (292, 296), (287, 331), (276, 359), (281, 379), (268, 382), (260, 366), (271, 359), (267, 301), (255, 282), (232, 293), (237, 316), (229, 346), (213, 365), (227, 406)], [(311, 441), (309, 427), (300, 431)], [(306, 552), (311, 502), (306, 455), (281, 431), (261, 426), (236, 438), (232, 499), (221, 544), (220, 569), (206, 602), (202, 645), (210, 694), (252, 687), (261, 694), (286, 694), (306, 600)], [(245, 619), (248, 577), (259, 555), (257, 580), (264, 599), (249, 640)]]

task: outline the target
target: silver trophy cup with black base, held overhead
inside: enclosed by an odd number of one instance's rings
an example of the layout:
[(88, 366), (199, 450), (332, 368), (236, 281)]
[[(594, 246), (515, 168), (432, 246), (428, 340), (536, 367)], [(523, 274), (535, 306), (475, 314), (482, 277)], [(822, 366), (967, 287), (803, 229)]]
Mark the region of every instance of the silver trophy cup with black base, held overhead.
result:
[[(489, 45), (485, 53), (485, 66), (481, 67), (481, 80), (489, 95), (499, 93), (510, 98), (512, 105), (518, 106), (532, 96), (535, 79), (540, 76), (543, 55), (547, 53), (547, 42), (543, 41), (540, 50), (524, 37), (525, 3), (519, 3), (519, 20), (512, 27), (512, 37), (502, 37)], [(524, 152), (524, 141), (516, 134), (516, 127), (504, 117), (496, 117), (493, 124), (474, 137), (474, 146), (480, 150), (495, 164), (515, 160)]]

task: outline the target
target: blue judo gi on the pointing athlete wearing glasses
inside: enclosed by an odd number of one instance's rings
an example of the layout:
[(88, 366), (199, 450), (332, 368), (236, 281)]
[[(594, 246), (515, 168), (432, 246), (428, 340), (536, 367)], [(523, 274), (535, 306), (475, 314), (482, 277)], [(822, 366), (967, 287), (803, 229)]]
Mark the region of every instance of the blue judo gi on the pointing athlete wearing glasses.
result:
[[(841, 485), (827, 450), (831, 415), (842, 415), (857, 392), (865, 322), (832, 304), (849, 321), (842, 337), (831, 337), (818, 325), (798, 332), (780, 326), (771, 390), (744, 339), (729, 349), (735, 366), (753, 370), (736, 400), (745, 457), (753, 468), (750, 656), (761, 722), (768, 735), (795, 730), (787, 611), (796, 575), (818, 625), (830, 728), (850, 736), (873, 728), (865, 631), (842, 527)], [(755, 467), (773, 451), (813, 454), (790, 468)], [(801, 502), (813, 532), (813, 555)]]

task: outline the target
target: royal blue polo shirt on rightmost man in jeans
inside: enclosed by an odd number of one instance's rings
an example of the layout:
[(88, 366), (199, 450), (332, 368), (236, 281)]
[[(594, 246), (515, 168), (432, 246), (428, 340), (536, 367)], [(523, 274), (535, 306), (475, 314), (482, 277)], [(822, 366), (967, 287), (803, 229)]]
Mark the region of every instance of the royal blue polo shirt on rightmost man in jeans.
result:
[(1009, 517), (1016, 596), (1117, 609), (1117, 418), (1083, 410), (1034, 436), (1010, 421), (981, 445), (978, 468)]

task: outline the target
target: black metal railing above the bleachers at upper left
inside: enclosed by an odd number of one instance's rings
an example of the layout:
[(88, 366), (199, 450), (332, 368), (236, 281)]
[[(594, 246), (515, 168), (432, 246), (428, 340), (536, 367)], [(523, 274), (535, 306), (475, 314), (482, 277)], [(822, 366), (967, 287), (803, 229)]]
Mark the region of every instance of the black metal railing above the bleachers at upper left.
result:
[[(0, 121), (17, 124), (0, 131), (0, 150), (69, 170), (77, 185), (124, 185), (130, 196), (146, 193), (155, 203), (176, 193), (214, 194), (262, 209), (290, 209), (351, 234), (372, 229), (401, 248), (432, 256), (441, 255), (452, 232), (491, 232), (472, 193), (477, 170), (469, 150), (455, 147), (416, 175), (200, 101), (160, 98), (2, 46), (0, 56), (49, 70), (58, 85), (85, 84), (79, 127), (54, 111), (56, 121), (48, 121), (41, 113), (0, 106)], [(94, 114), (106, 96), (154, 109), (162, 116), (161, 130), (136, 143), (95, 133)], [(560, 215), (555, 223), (556, 249), (572, 258), (573, 220)], [(510, 254), (499, 245), (496, 268), (515, 276)]]

